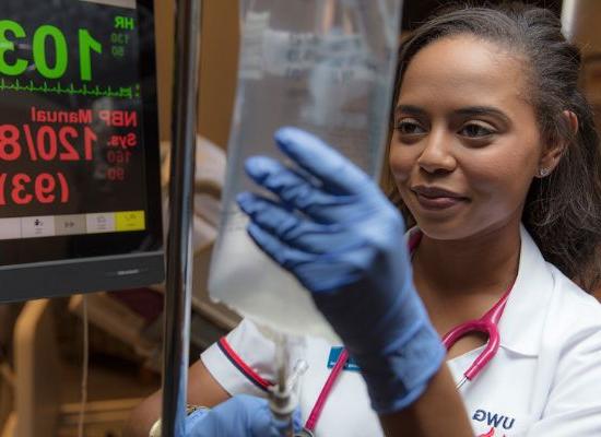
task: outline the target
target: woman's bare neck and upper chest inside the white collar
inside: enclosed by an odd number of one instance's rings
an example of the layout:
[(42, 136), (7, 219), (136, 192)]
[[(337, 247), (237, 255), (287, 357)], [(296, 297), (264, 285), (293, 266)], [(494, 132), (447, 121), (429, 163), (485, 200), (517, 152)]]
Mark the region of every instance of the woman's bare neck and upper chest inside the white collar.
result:
[[(482, 317), (514, 283), (519, 263), (519, 220), (461, 240), (424, 235), (413, 258), (415, 286), (440, 335)], [(455, 358), (486, 342), (479, 333), (462, 338)]]

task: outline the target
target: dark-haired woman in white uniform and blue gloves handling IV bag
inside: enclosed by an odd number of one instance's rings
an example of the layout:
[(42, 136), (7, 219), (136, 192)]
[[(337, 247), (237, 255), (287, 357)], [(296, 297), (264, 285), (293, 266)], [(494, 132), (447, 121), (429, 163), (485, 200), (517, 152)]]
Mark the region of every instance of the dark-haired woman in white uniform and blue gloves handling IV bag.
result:
[[(291, 129), (276, 135), (316, 186), (276, 162), (249, 162), (250, 176), (280, 197), (240, 198), (254, 239), (313, 293), (363, 368), (365, 379), (353, 366), (342, 371), (316, 436), (384, 435), (370, 406), (393, 435), (414, 405), (422, 435), (464, 435), (467, 423), (476, 436), (601, 435), (601, 308), (568, 279), (599, 286), (587, 272), (599, 265), (601, 157), (579, 68), (578, 50), (542, 9), (446, 12), (403, 44), (386, 184), (412, 227), (410, 255), (400, 215), (319, 140)], [(485, 339), (459, 341), (439, 367), (428, 327), (444, 336), (508, 291), (500, 347), (453, 395)], [(392, 347), (399, 339), (408, 341)], [(303, 343), (306, 421), (339, 345)], [(396, 359), (421, 346), (429, 366)], [(273, 343), (243, 321), (192, 366), (190, 403), (264, 397), (273, 357)], [(423, 380), (405, 390), (394, 385), (403, 371)], [(137, 435), (148, 435), (158, 399), (134, 414)]]

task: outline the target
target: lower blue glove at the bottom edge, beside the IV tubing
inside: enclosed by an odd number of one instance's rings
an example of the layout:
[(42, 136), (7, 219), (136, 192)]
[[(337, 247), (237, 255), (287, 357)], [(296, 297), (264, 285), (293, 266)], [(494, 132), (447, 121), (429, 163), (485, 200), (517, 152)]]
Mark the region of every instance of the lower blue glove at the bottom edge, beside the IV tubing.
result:
[[(294, 415), (300, 429), (300, 414)], [(280, 437), (268, 401), (238, 394), (211, 410), (198, 410), (186, 417), (187, 437)]]

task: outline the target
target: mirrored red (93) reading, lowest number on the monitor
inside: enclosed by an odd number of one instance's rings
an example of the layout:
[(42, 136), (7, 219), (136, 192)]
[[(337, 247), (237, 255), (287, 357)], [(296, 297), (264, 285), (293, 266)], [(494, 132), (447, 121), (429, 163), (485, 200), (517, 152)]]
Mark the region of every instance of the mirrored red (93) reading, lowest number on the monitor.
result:
[(34, 201), (42, 204), (69, 203), (69, 184), (64, 175), (60, 172), (36, 176), (0, 173), (0, 206), (8, 202), (27, 205)]

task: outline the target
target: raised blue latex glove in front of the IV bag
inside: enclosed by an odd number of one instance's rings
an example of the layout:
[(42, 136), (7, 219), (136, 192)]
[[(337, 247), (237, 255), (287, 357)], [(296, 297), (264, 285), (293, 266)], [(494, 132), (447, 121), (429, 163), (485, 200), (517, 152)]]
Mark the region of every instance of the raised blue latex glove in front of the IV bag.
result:
[(302, 170), (263, 156), (247, 161), (248, 175), (278, 197), (238, 196), (248, 233), (311, 292), (362, 367), (374, 410), (401, 410), (445, 357), (413, 285), (402, 216), (318, 138), (283, 128), (275, 142)]

